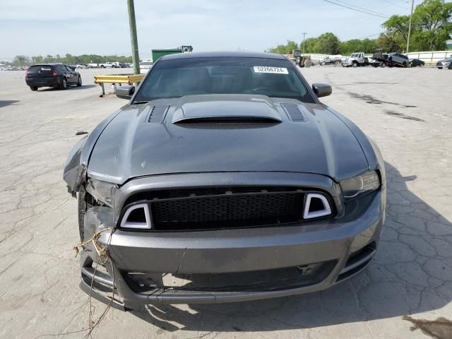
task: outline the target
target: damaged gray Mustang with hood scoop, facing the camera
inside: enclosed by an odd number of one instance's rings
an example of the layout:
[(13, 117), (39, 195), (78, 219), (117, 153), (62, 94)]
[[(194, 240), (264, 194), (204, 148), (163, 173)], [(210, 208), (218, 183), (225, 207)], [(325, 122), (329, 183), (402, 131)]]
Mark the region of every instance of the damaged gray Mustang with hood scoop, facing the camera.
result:
[[(381, 154), (285, 57), (159, 59), (79, 141), (81, 287), (114, 306), (239, 302), (323, 290), (363, 270), (383, 227)], [(105, 230), (106, 232), (102, 232)], [(100, 233), (97, 233), (100, 232)], [(101, 262), (103, 263), (103, 261)], [(91, 290), (92, 287), (92, 290)]]

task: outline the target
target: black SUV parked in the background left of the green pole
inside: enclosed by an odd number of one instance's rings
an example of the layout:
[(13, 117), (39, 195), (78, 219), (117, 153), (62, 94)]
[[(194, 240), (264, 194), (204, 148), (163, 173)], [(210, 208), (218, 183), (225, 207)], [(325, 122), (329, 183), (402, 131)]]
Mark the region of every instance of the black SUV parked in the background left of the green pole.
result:
[(69, 85), (82, 85), (80, 73), (65, 64), (38, 64), (25, 72), (25, 82), (31, 90), (40, 87), (58, 87), (66, 90)]

